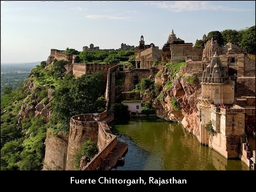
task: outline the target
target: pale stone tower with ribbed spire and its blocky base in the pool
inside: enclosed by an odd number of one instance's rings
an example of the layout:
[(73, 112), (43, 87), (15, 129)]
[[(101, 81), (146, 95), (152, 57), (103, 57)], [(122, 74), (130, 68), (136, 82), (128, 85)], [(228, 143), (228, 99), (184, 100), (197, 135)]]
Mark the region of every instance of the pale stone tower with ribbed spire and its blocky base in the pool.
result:
[[(201, 106), (199, 137), (201, 144), (209, 145), (225, 158), (236, 158), (240, 135), (244, 133), (244, 109), (234, 105), (234, 81), (229, 80), (226, 71), (215, 52), (203, 71), (202, 95), (198, 98)], [(214, 135), (205, 129), (210, 121)]]

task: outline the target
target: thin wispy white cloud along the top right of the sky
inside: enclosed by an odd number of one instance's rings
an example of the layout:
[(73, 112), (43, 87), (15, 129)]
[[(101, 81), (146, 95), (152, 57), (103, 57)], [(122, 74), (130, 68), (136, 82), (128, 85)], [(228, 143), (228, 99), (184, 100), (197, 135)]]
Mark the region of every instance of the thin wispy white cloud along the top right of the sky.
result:
[(151, 2), (150, 5), (168, 9), (173, 12), (182, 12), (182, 11), (203, 11), (203, 10), (213, 10), (213, 11), (253, 11), (253, 9), (241, 9), (241, 8), (232, 8), (222, 5), (217, 5), (218, 1), (214, 1), (214, 4), (211, 4), (208, 1), (173, 1), (170, 3), (166, 2)]

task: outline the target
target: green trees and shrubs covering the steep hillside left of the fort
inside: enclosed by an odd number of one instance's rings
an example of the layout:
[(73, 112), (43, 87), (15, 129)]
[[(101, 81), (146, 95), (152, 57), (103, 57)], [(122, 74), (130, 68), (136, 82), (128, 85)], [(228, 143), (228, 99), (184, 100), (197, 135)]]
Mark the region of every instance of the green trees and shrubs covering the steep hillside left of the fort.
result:
[[(65, 75), (64, 60), (46, 68), (45, 64), (41, 62), (23, 85), (1, 97), (1, 170), (41, 170), (48, 128), (55, 134), (68, 133), (71, 116), (105, 110), (102, 73), (75, 79)], [(38, 103), (52, 115), (35, 117)]]

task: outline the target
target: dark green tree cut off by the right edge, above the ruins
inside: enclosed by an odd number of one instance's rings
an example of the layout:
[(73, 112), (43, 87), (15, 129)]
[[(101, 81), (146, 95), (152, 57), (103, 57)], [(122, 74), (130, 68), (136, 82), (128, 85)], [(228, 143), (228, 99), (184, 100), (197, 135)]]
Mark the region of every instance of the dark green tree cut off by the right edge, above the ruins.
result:
[(240, 45), (247, 49), (248, 53), (255, 55), (255, 26), (244, 31)]

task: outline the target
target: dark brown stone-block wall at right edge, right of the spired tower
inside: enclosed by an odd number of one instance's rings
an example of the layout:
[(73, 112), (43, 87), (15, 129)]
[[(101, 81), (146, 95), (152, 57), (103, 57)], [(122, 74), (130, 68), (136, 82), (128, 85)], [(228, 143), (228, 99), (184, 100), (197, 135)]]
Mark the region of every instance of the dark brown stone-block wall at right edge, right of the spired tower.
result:
[(237, 93), (241, 96), (255, 96), (255, 76), (237, 78)]

